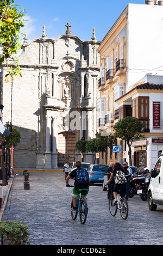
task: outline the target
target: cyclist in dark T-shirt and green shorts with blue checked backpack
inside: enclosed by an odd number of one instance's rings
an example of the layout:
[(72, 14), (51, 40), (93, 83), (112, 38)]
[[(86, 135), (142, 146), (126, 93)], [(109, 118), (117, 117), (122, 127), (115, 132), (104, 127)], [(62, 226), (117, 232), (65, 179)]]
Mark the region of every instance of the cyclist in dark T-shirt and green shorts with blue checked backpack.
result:
[(89, 186), (90, 186), (90, 182), (89, 182), (89, 175), (88, 173), (84, 170), (84, 172), (86, 172), (86, 177), (85, 180), (83, 182), (79, 182), (77, 179), (77, 173), (82, 172), (82, 163), (80, 161), (76, 161), (75, 163), (76, 165), (76, 169), (72, 170), (72, 172), (67, 176), (66, 178), (66, 186), (70, 186), (68, 184), (68, 180), (70, 180), (71, 178), (74, 178), (74, 188), (72, 190), (72, 202), (73, 202), (73, 208), (71, 209), (72, 211), (76, 211), (77, 210), (77, 197), (79, 196), (79, 194), (82, 192), (82, 197), (83, 199), (85, 199), (86, 204), (87, 204), (87, 194), (89, 192)]

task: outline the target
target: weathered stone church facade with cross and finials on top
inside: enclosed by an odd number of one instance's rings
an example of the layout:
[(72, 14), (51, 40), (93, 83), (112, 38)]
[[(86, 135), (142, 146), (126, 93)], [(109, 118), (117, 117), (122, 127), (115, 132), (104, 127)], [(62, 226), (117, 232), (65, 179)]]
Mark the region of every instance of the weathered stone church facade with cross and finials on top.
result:
[[(3, 124), (21, 133), (14, 149), (14, 168), (55, 169), (79, 159), (75, 144), (96, 134), (100, 42), (95, 28), (90, 41), (71, 34), (48, 39), (24, 38), (19, 57), (22, 77), (5, 83), (1, 70)], [(11, 64), (14, 64), (10, 61)], [(84, 161), (92, 162), (92, 154)]]

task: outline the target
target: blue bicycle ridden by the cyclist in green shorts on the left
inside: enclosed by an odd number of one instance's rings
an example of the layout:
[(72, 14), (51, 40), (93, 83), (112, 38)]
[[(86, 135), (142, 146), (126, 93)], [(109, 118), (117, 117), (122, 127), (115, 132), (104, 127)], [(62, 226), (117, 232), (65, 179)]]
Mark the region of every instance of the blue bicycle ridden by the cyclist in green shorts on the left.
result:
[[(66, 185), (67, 187), (74, 187), (72, 185)], [(71, 202), (71, 209), (73, 208), (73, 202)], [(80, 222), (82, 224), (84, 224), (86, 222), (86, 217), (87, 217), (87, 204), (85, 202), (85, 200), (82, 197), (82, 193), (81, 196), (79, 194), (79, 196), (77, 197), (77, 211), (72, 211), (71, 210), (71, 217), (72, 220), (76, 220), (77, 216), (78, 216), (78, 212), (79, 212), (79, 217), (80, 217)]]

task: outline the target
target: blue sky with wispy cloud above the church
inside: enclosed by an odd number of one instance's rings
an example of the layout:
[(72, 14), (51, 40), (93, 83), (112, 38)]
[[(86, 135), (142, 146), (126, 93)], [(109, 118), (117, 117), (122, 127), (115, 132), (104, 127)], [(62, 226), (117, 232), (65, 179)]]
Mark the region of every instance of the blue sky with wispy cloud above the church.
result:
[(96, 40), (102, 41), (129, 3), (145, 4), (145, 0), (14, 0), (17, 8), (26, 9), (28, 42), (41, 38), (45, 25), (47, 38), (65, 35), (67, 22), (71, 34), (82, 41), (91, 40), (95, 27)]

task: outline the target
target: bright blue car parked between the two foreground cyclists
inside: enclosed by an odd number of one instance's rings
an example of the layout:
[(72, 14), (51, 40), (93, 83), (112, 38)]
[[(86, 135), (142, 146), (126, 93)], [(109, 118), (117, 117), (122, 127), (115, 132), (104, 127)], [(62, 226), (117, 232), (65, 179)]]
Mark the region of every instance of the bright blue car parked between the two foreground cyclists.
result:
[(108, 167), (109, 166), (106, 164), (90, 164), (90, 166), (87, 168), (87, 173), (90, 177), (90, 185), (92, 183), (102, 183), (104, 173)]

